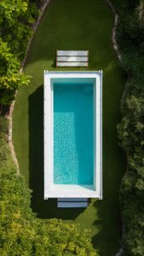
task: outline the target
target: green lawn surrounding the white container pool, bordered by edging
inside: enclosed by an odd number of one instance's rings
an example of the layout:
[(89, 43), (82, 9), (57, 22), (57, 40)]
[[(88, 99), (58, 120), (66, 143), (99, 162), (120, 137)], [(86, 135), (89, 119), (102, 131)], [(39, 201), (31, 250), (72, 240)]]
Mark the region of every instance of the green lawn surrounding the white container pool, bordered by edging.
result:
[[(62, 218), (90, 229), (101, 256), (118, 251), (118, 191), (125, 164), (116, 129), (125, 79), (112, 49), (113, 22), (104, 0), (53, 0), (38, 26), (26, 61), (25, 73), (32, 75), (32, 83), (19, 90), (13, 116), (14, 148), (20, 172), (33, 190), (33, 211), (39, 218)], [(57, 209), (56, 200), (43, 201), (43, 70), (87, 70), (56, 69), (56, 49), (89, 49), (89, 70), (103, 70), (103, 200), (90, 201), (84, 210)]]

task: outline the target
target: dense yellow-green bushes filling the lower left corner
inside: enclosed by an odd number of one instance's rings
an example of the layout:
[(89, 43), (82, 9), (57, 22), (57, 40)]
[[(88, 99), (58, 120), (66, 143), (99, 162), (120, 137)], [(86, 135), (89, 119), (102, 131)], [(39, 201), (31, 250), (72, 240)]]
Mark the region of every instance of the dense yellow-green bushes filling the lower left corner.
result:
[(0, 255), (95, 256), (87, 230), (36, 218), (30, 207), (31, 191), (15, 172), (6, 133), (6, 119), (0, 117)]

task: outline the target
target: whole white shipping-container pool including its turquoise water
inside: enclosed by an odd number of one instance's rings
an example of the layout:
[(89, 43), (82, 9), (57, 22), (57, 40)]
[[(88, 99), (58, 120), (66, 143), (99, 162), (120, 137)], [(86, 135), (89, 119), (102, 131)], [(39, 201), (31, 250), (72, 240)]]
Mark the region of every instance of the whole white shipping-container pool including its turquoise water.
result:
[(44, 199), (102, 198), (102, 73), (44, 72)]

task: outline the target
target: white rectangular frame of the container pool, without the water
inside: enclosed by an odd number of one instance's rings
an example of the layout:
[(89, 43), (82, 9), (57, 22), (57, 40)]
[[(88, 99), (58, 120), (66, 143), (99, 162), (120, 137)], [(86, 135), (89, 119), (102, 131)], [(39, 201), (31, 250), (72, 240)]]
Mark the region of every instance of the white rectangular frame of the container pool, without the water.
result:
[[(54, 184), (53, 154), (53, 86), (51, 79), (95, 79), (94, 185)], [(44, 199), (99, 198), (102, 199), (102, 71), (52, 72), (44, 71)]]

